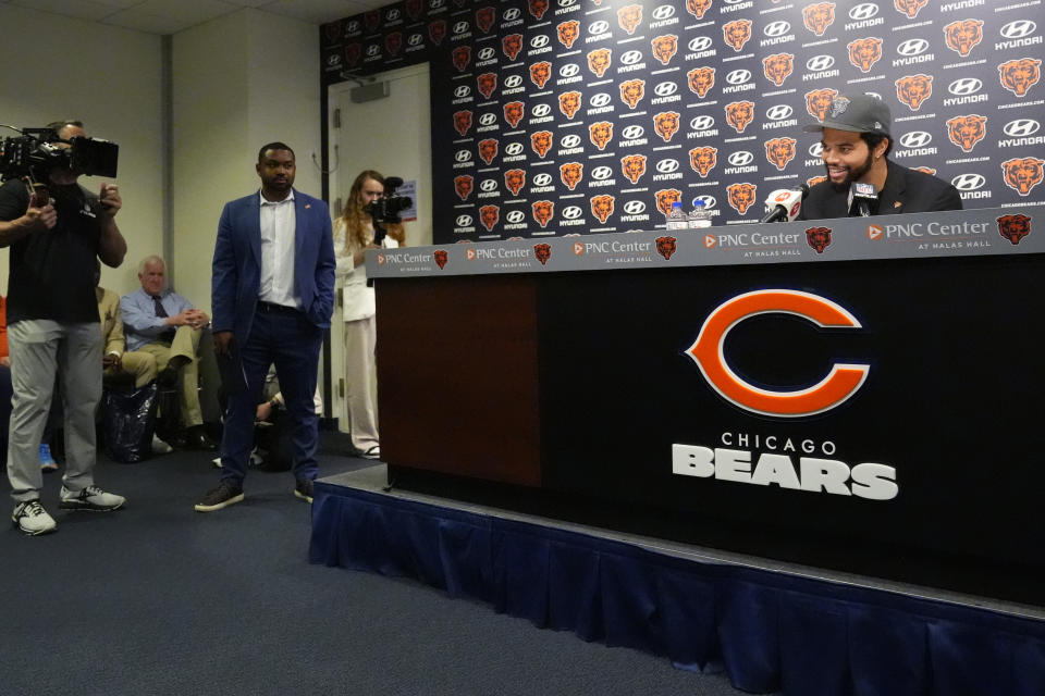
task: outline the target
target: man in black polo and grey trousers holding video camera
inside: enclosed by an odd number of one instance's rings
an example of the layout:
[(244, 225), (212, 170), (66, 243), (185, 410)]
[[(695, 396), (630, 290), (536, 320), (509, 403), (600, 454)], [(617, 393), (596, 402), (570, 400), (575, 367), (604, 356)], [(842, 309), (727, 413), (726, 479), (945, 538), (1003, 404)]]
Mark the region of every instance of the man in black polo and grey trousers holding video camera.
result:
[[(86, 137), (78, 121), (48, 125), (61, 151)], [(62, 160), (58, 160), (62, 162)], [(0, 186), (0, 247), (11, 247), (8, 338), (14, 387), (8, 478), (16, 506), (12, 521), (26, 534), (53, 532), (40, 505), (40, 435), (56, 374), (65, 413), (65, 475), (59, 507), (115, 510), (125, 500), (95, 485), (95, 409), (101, 397), (101, 333), (95, 298), (95, 259), (116, 268), (127, 244), (113, 217), (123, 201), (112, 184), (98, 195), (77, 184), (72, 159), (35, 173), (49, 189), (33, 195), (23, 179)]]

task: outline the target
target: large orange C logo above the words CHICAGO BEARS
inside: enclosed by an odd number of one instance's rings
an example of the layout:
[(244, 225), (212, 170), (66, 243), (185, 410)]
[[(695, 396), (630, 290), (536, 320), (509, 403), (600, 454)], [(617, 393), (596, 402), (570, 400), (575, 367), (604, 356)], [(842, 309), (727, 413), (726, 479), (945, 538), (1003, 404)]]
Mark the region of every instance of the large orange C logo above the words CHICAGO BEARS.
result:
[(723, 302), (700, 327), (687, 355), (704, 378), (726, 400), (748, 411), (779, 418), (800, 418), (828, 411), (856, 394), (868, 378), (870, 365), (834, 364), (817, 384), (797, 391), (771, 391), (745, 382), (723, 352), (729, 331), (759, 314), (794, 314), (817, 326), (860, 328), (860, 322), (831, 300), (799, 290), (755, 290)]

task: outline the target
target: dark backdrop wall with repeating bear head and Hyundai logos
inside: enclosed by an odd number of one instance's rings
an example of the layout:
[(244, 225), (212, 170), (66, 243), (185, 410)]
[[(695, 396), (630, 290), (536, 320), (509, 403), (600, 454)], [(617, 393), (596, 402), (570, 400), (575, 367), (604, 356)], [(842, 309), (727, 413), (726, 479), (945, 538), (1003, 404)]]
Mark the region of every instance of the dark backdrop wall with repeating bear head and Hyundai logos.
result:
[(1045, 201), (1042, 0), (407, 0), (321, 27), (323, 86), (431, 65), (434, 243), (757, 221), (832, 97), (966, 208)]

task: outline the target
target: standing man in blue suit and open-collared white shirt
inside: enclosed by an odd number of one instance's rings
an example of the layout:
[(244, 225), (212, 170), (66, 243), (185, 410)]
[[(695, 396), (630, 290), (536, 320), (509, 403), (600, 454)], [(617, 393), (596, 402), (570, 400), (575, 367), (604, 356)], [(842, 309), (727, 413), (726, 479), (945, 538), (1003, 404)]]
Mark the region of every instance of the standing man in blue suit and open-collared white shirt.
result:
[(211, 278), (214, 352), (236, 370), (242, 361), (246, 388), (224, 385), (221, 481), (196, 504), (199, 512), (243, 500), (254, 417), (273, 363), (291, 419), (294, 495), (312, 501), (318, 439), (312, 396), (334, 304), (330, 212), (323, 201), (294, 190), (294, 151), (286, 145), (262, 147), (257, 172), (261, 190), (225, 203), (218, 223)]

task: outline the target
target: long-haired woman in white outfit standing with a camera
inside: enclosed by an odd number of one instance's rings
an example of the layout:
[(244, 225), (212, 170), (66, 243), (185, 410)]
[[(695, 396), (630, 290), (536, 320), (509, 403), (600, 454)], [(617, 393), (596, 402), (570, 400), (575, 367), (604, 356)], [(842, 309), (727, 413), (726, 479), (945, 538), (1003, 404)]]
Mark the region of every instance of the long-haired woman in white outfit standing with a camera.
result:
[(381, 456), (378, 446), (378, 399), (374, 390), (374, 295), (367, 287), (367, 249), (396, 248), (406, 245), (402, 223), (380, 223), (384, 232), (380, 245), (374, 244), (373, 219), (367, 208), (384, 196), (384, 177), (365, 170), (353, 182), (348, 201), (334, 221), (334, 254), (337, 275), (344, 277), (343, 308), (345, 320), (345, 398), (352, 445), (369, 459)]

